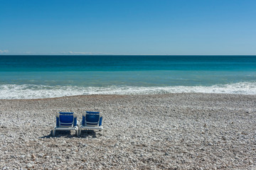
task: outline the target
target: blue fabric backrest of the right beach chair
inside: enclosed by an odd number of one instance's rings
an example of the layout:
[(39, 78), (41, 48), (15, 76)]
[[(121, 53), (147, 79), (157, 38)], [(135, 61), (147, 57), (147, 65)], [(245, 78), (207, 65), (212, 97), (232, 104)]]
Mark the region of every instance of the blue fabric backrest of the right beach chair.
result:
[(100, 126), (102, 124), (102, 116), (100, 112), (86, 112), (82, 114), (83, 126)]

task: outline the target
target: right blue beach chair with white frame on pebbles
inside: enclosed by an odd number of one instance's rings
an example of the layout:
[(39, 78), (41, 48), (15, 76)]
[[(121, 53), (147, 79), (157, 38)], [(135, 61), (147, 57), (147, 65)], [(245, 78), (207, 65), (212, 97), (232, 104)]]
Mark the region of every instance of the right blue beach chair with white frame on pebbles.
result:
[(82, 113), (82, 125), (79, 128), (79, 135), (81, 135), (82, 130), (101, 130), (103, 135), (102, 126), (102, 115), (100, 112), (85, 112)]

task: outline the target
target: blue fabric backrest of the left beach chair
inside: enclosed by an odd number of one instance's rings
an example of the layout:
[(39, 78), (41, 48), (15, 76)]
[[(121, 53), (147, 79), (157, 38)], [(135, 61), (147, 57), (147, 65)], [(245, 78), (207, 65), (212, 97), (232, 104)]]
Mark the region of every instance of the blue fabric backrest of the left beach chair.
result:
[(60, 112), (56, 115), (56, 126), (73, 127), (77, 124), (77, 118), (74, 113)]

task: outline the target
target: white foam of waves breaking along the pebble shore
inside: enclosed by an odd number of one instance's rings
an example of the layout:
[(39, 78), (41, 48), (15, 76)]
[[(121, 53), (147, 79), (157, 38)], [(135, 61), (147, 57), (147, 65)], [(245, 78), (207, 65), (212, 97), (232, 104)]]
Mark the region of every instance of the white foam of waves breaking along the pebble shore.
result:
[(213, 93), (256, 95), (256, 82), (240, 82), (214, 86), (45, 86), (45, 85), (0, 85), (0, 99), (55, 98), (89, 94), (170, 94)]

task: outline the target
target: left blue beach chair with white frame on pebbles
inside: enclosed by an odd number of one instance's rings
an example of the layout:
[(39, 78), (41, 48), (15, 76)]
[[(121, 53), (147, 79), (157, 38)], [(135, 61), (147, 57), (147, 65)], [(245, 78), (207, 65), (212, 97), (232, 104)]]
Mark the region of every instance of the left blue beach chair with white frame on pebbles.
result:
[(56, 130), (75, 130), (75, 134), (79, 135), (76, 114), (70, 112), (58, 113), (56, 115), (56, 126), (53, 129), (53, 136), (55, 136)]

